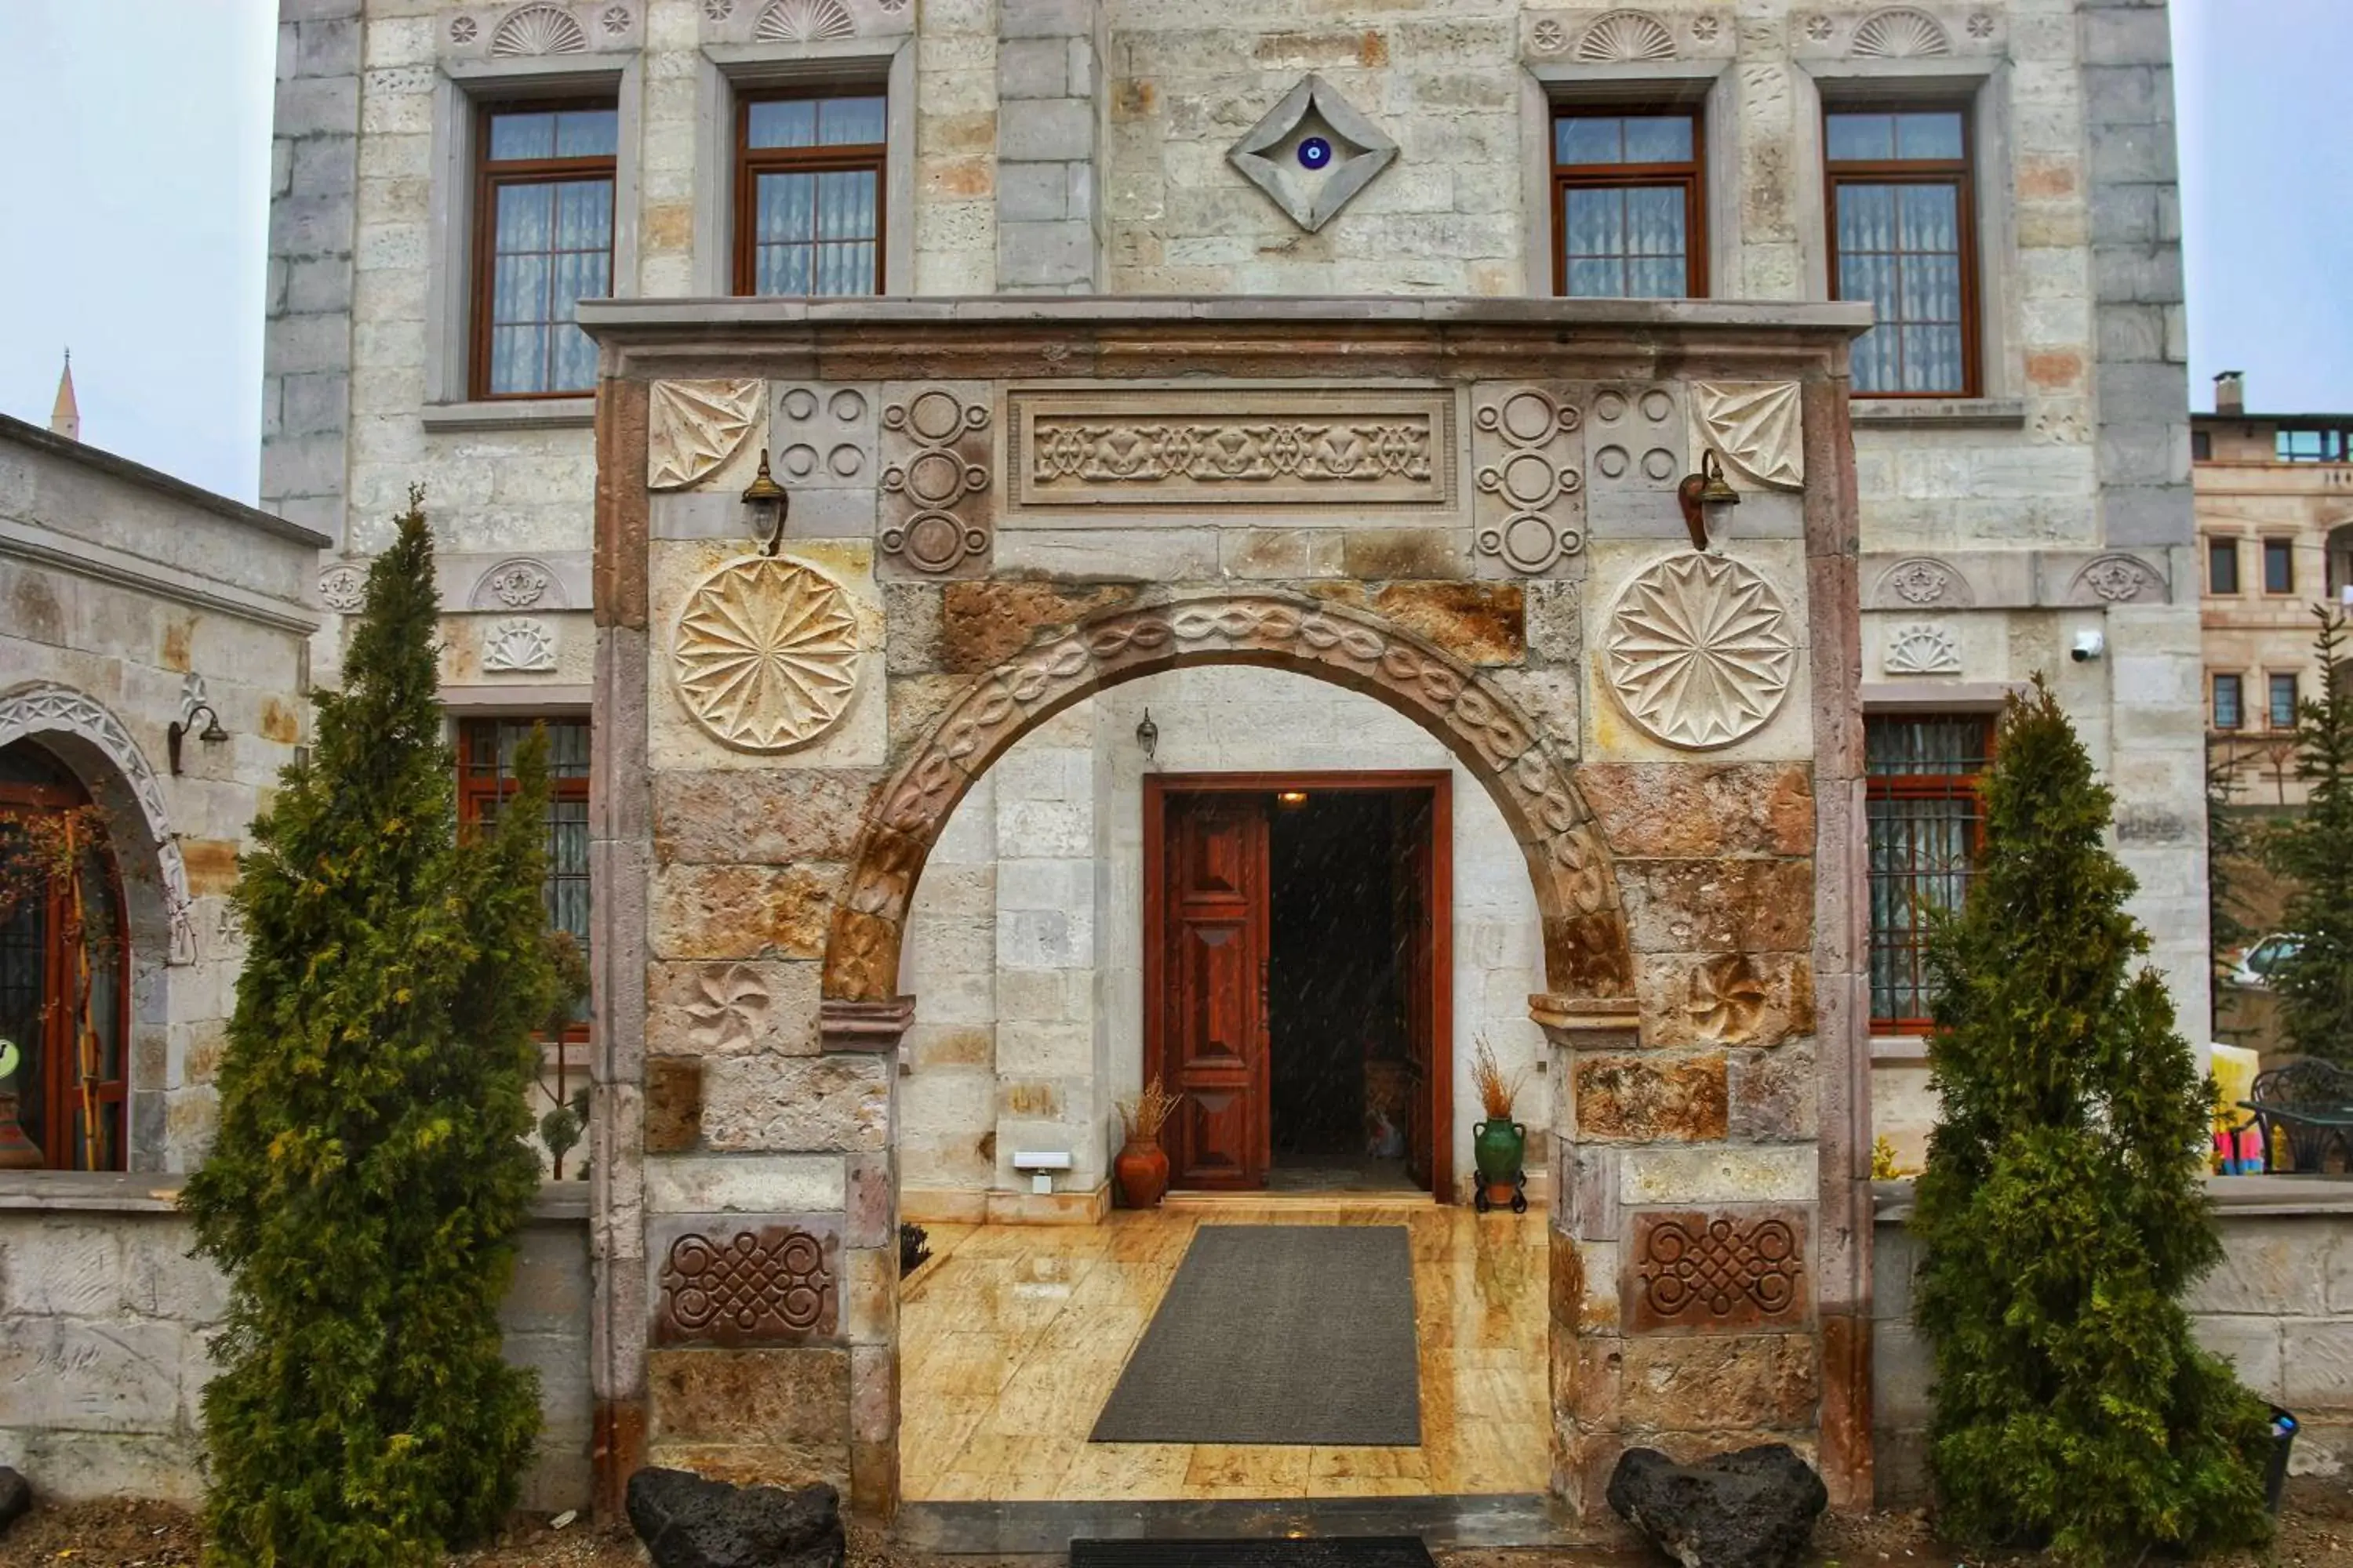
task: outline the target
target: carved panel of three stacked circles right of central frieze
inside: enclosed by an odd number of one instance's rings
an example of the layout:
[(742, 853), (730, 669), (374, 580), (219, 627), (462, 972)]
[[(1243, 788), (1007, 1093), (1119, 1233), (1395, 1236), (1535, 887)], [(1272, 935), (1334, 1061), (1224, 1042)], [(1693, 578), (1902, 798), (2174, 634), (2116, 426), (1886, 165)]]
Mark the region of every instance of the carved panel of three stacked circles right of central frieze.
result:
[(1560, 386), (1478, 388), (1471, 402), (1480, 571), (1558, 574), (1586, 548), (1584, 409)]

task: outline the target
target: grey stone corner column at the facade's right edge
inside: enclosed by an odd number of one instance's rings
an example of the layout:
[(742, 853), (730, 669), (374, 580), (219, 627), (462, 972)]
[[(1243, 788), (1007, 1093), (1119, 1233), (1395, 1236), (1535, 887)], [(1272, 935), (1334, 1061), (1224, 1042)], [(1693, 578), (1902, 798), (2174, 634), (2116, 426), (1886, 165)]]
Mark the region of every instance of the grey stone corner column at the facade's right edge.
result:
[(2092, 190), (2099, 527), (2111, 550), (2162, 555), (2169, 604), (2111, 609), (2108, 780), (2118, 856), (2141, 882), (2134, 917), (2155, 938), (2179, 1023), (2207, 1025), (2205, 679), (2198, 656), (2191, 508), (2188, 327), (2167, 7), (2082, 0), (2085, 143)]

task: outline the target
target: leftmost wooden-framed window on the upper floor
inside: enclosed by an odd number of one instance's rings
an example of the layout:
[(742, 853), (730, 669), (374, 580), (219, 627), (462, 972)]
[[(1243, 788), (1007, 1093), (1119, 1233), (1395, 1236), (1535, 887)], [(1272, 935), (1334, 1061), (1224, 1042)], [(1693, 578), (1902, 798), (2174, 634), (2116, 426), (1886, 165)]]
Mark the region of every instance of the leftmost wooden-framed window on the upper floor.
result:
[(572, 320), (612, 294), (612, 99), (485, 106), (475, 134), (471, 388), (475, 397), (595, 390)]

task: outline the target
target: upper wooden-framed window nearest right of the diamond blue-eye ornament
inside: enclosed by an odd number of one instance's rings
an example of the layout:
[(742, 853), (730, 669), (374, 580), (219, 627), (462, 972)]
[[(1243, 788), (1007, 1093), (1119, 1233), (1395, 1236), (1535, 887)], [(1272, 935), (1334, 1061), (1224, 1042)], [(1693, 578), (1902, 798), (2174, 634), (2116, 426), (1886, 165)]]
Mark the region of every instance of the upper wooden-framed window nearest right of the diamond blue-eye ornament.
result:
[(1704, 299), (1699, 110), (1562, 108), (1553, 115), (1553, 292)]

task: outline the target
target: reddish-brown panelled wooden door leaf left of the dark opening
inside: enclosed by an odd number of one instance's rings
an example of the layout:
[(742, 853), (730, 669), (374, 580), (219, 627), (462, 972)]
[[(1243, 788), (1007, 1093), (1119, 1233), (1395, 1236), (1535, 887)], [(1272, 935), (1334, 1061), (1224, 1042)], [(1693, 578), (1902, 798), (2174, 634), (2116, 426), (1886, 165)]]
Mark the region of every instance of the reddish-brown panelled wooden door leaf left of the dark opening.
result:
[(1167, 802), (1158, 980), (1169, 1180), (1266, 1185), (1266, 799)]

